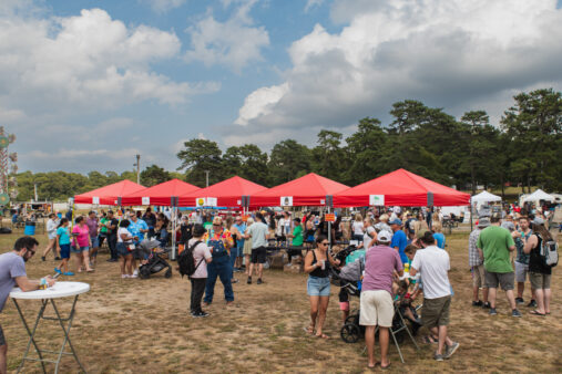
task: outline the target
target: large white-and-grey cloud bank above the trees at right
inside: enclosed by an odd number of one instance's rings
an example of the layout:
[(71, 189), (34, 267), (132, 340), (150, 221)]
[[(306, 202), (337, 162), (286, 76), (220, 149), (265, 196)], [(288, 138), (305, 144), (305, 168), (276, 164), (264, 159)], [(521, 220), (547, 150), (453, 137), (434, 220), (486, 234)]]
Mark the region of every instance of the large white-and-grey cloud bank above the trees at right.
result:
[(369, 0), (346, 12), (343, 4), (331, 10), (349, 20), (341, 32), (317, 24), (290, 46), (285, 82), (246, 97), (238, 136), (264, 142), (280, 127), (285, 138), (303, 127), (345, 127), (385, 117), (405, 98), (453, 114), (481, 104), (494, 117), (514, 91), (562, 89), (555, 0)]

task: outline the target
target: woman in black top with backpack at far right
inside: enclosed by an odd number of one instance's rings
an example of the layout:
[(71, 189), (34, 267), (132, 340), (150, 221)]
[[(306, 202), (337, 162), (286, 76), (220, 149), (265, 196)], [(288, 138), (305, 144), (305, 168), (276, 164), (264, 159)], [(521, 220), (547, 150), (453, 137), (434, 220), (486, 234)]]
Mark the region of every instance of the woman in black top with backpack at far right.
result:
[(525, 240), (523, 248), (525, 253), (531, 254), (529, 257), (529, 278), (537, 299), (537, 309), (530, 312), (533, 315), (544, 316), (550, 314), (550, 300), (552, 298), (550, 279), (552, 277), (552, 268), (544, 263), (544, 259), (541, 256), (541, 248), (549, 240), (552, 240), (552, 236), (544, 227), (544, 220), (542, 218), (534, 218), (533, 233)]

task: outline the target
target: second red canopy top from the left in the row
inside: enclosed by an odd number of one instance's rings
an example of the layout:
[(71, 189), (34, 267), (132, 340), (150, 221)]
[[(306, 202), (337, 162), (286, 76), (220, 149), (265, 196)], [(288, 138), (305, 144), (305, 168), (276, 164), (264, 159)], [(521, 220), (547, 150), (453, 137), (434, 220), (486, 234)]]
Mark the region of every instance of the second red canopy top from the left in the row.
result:
[(121, 201), (122, 205), (156, 205), (170, 207), (174, 206), (174, 204), (172, 204), (172, 197), (191, 194), (200, 189), (200, 187), (190, 185), (183, 180), (172, 179), (124, 196)]

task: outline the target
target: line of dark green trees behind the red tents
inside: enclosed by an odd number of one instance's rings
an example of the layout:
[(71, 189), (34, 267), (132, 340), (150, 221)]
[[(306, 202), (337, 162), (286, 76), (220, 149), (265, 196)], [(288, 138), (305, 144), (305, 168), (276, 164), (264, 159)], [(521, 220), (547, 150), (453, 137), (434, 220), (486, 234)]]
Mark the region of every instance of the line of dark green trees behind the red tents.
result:
[[(275, 144), (269, 154), (254, 144), (228, 147), (194, 138), (178, 152), (177, 170), (152, 165), (141, 174), (141, 184), (153, 186), (174, 177), (204, 187), (238, 175), (266, 187), (276, 186), (310, 172), (356, 186), (398, 168), (462, 190), (477, 185), (501, 188), (540, 186), (562, 190), (562, 93), (542, 89), (520, 93), (504, 111), (498, 126), (484, 111), (470, 111), (459, 120), (442, 108), (413, 100), (392, 104), (391, 121), (384, 125), (366, 117), (348, 137), (323, 129), (317, 144), (308, 147), (295, 139)], [(20, 196), (67, 197), (122, 179), (136, 181), (136, 174), (114, 172), (81, 174), (31, 172), (18, 175)], [(527, 190), (525, 190), (527, 188)]]

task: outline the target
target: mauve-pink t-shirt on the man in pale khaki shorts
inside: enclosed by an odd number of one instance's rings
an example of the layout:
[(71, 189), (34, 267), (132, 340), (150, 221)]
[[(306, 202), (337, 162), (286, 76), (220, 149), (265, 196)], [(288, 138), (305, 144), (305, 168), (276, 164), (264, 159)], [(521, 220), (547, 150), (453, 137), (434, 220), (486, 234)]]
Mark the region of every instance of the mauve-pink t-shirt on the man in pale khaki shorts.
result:
[(394, 270), (403, 270), (402, 260), (395, 249), (375, 246), (365, 253), (365, 277), (361, 291), (385, 290), (392, 294)]

